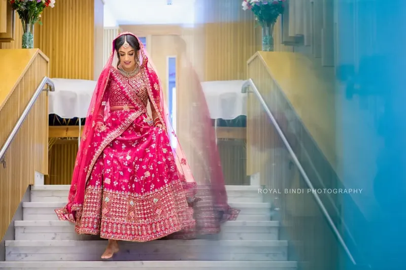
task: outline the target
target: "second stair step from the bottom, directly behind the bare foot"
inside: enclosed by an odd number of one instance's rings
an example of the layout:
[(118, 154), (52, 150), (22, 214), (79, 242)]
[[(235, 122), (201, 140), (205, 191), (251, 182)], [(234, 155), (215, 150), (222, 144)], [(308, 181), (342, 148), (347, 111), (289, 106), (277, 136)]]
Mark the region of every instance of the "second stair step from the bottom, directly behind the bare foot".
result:
[[(107, 241), (6, 241), (6, 261), (101, 260)], [(287, 241), (156, 240), (120, 242), (114, 260), (285, 261)]]

